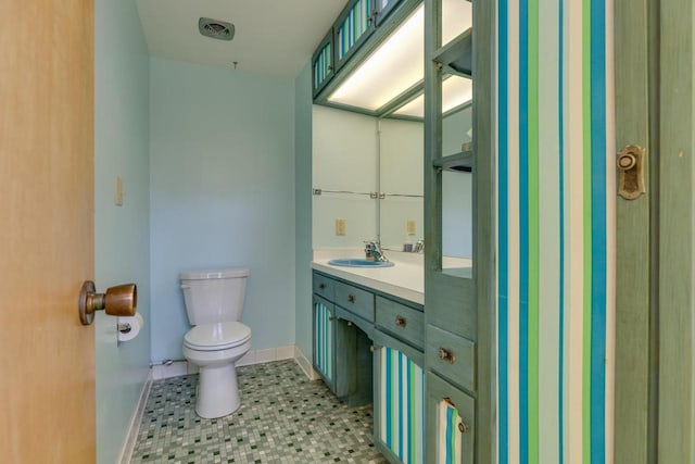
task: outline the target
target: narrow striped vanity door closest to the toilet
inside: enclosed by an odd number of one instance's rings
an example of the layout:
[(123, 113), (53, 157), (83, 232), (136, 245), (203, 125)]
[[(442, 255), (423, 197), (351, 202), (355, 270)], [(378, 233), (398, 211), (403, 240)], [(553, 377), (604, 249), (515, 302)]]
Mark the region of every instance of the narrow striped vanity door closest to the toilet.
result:
[(336, 391), (336, 309), (333, 303), (314, 296), (313, 312), (314, 368)]

